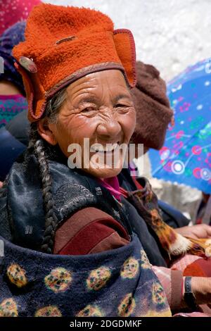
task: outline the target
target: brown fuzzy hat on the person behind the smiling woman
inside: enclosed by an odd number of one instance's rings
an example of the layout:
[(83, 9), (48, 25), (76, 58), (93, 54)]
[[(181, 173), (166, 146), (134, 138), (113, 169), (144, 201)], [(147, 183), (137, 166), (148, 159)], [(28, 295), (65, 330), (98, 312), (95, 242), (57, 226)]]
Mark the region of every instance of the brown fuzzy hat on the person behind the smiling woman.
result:
[(137, 82), (132, 89), (136, 109), (136, 129), (132, 142), (148, 149), (160, 149), (173, 116), (165, 81), (153, 65), (136, 61)]

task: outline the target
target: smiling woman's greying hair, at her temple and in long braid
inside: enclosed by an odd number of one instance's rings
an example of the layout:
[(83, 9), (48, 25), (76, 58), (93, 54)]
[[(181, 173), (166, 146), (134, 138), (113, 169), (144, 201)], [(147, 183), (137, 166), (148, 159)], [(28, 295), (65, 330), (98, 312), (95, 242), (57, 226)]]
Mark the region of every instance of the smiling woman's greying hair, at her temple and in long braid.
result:
[[(65, 101), (65, 91), (66, 88), (61, 89), (51, 100), (47, 102), (45, 117), (48, 120), (48, 123), (56, 123), (60, 107)], [(49, 150), (51, 147), (48, 145), (49, 144), (47, 144), (39, 135), (37, 123), (32, 123), (30, 127), (30, 142), (28, 151), (30, 151), (30, 153), (34, 153), (39, 165), (45, 212), (44, 238), (41, 243), (40, 250), (44, 253), (52, 254), (58, 219), (55, 213), (54, 199), (51, 190), (52, 180), (48, 162)]]

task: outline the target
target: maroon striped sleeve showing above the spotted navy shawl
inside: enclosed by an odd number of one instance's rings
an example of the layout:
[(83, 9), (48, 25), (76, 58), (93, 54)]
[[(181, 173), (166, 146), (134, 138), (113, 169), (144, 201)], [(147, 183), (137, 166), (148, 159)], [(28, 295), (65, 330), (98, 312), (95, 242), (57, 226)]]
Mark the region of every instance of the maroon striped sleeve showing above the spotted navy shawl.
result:
[(103, 211), (89, 207), (77, 211), (56, 231), (53, 253), (85, 255), (116, 249), (129, 243), (120, 223)]

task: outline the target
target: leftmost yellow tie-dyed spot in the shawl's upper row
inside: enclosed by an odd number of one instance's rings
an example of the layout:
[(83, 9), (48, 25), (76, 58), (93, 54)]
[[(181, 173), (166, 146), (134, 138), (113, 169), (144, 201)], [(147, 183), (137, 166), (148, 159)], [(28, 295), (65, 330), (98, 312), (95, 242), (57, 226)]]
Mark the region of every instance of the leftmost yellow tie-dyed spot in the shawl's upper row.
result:
[(17, 287), (27, 285), (27, 277), (25, 273), (25, 270), (16, 263), (11, 264), (6, 271), (8, 279)]

